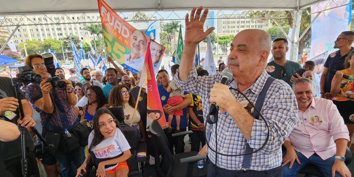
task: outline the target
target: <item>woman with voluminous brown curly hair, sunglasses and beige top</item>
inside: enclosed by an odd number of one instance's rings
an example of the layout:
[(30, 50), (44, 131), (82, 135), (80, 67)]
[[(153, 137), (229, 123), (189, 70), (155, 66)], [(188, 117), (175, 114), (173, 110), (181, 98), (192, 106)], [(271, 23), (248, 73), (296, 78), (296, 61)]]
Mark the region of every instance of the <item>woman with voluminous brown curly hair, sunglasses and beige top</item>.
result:
[[(130, 125), (133, 118), (136, 101), (129, 87), (125, 85), (114, 86), (109, 93), (108, 104), (110, 108), (122, 106), (124, 109), (124, 123)], [(135, 112), (132, 125), (135, 125), (138, 129), (140, 129), (140, 127), (144, 127), (143, 121), (140, 119), (140, 112), (138, 109)], [(140, 129), (140, 132), (142, 139), (145, 141), (145, 130)]]

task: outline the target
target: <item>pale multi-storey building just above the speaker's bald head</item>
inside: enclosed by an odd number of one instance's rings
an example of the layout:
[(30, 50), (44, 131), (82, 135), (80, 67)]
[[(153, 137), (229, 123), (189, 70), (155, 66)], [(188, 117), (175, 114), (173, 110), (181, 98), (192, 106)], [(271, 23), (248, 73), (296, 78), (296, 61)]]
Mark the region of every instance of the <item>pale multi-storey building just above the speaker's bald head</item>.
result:
[[(244, 14), (246, 12), (242, 12)], [(239, 14), (231, 15), (219, 15), (218, 20), (218, 33), (230, 33), (231, 35), (236, 35), (244, 29), (262, 29), (266, 30), (271, 26), (270, 19), (259, 20), (259, 19), (248, 19), (249, 15), (242, 16)], [(244, 17), (244, 18), (242, 18)]]

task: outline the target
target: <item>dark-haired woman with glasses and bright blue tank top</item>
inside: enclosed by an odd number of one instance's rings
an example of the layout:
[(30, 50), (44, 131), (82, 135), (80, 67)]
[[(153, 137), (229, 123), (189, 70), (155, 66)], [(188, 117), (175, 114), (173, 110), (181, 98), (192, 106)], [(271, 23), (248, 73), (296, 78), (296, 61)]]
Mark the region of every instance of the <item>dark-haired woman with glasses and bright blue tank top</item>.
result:
[(85, 111), (82, 111), (81, 120), (86, 119), (92, 121), (96, 110), (99, 108), (108, 108), (107, 100), (101, 87), (97, 85), (87, 87), (87, 94), (85, 96), (88, 98), (88, 101), (82, 108), (82, 110)]

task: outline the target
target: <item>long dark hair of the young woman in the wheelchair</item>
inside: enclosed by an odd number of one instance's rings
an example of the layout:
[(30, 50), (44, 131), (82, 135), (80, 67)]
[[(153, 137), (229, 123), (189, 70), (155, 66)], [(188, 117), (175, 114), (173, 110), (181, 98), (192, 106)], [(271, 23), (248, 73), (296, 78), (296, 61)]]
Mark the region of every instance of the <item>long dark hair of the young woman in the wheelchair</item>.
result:
[[(123, 133), (122, 129), (120, 128), (120, 124), (119, 124), (118, 120), (115, 118), (115, 116), (108, 109), (99, 108), (96, 111), (95, 115), (93, 116), (93, 132), (94, 132), (94, 135), (93, 135), (93, 139), (92, 139), (92, 142), (90, 144), (90, 147), (89, 147), (89, 152), (92, 151), (93, 147), (95, 147), (96, 145), (101, 143), (102, 139), (104, 138), (104, 136), (102, 135), (102, 133), (99, 131), (99, 128), (98, 128), (98, 119), (99, 119), (99, 117), (101, 117), (102, 114), (109, 114), (110, 116), (112, 116), (112, 118), (114, 119), (114, 122), (116, 124), (116, 127), (118, 129), (120, 129), (120, 131)], [(124, 133), (123, 133), (123, 135), (124, 135)]]

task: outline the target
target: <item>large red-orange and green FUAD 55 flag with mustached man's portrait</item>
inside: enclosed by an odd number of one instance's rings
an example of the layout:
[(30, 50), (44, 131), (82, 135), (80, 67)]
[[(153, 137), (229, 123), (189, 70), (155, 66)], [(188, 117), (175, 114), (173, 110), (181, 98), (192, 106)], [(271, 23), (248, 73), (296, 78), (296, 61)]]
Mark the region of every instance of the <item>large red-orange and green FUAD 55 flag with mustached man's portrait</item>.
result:
[(124, 68), (137, 74), (143, 69), (150, 38), (121, 18), (104, 0), (97, 2), (108, 55)]

